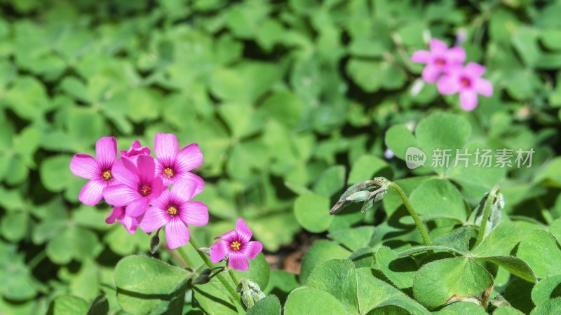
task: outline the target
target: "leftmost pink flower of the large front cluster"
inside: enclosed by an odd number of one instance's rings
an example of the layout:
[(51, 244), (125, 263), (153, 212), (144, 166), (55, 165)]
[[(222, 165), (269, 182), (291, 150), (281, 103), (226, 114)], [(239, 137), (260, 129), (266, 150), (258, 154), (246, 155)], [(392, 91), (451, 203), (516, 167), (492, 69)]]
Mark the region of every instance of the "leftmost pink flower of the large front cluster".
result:
[(95, 206), (103, 197), (103, 189), (115, 184), (113, 165), (117, 158), (117, 140), (114, 137), (102, 137), (95, 144), (95, 156), (75, 154), (70, 162), (72, 174), (89, 179), (83, 186), (78, 200), (88, 206)]

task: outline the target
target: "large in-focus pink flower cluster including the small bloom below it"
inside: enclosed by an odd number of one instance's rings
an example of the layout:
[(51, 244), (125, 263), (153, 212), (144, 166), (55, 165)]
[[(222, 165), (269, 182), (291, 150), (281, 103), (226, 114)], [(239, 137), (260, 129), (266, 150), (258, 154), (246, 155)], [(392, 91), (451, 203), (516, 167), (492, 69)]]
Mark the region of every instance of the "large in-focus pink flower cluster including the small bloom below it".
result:
[[(119, 221), (130, 234), (139, 226), (147, 233), (165, 226), (165, 239), (173, 249), (189, 242), (188, 225), (208, 223), (207, 206), (191, 200), (205, 188), (203, 179), (191, 173), (203, 163), (203, 153), (197, 144), (180, 150), (174, 134), (156, 134), (154, 151), (156, 158), (151, 157), (150, 148), (134, 141), (117, 158), (116, 139), (103, 137), (95, 144), (96, 158), (76, 154), (70, 170), (89, 180), (78, 196), (83, 204), (95, 206), (104, 199), (114, 207), (106, 223)], [(219, 236), (229, 244), (217, 247), (219, 241), (212, 245), (217, 248), (211, 253), (212, 261), (228, 257), (233, 269), (248, 269), (246, 258), (255, 258), (263, 248), (259, 241), (250, 241), (251, 236), (239, 219), (236, 230)]]

